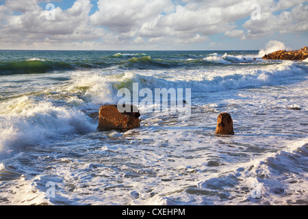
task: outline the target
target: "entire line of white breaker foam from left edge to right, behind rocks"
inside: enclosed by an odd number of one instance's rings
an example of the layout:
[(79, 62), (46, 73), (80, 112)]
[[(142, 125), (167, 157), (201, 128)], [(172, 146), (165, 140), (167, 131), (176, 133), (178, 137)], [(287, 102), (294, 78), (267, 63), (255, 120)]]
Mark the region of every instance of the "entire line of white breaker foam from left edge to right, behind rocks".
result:
[[(221, 57), (219, 57), (221, 58)], [(192, 88), (192, 91), (213, 92), (246, 87), (258, 87), (280, 83), (285, 77), (305, 73), (294, 62), (264, 66), (264, 68), (246, 68), (235, 70), (214, 70), (210, 74), (202, 71), (181, 72), (176, 79), (162, 79), (159, 74), (151, 72), (125, 72), (120, 75), (100, 75), (93, 73), (78, 73), (73, 76), (73, 83), (57, 90), (68, 95), (67, 103), (79, 109), (98, 109), (106, 103), (117, 103), (120, 88), (132, 89), (133, 83), (139, 88)], [(157, 71), (155, 72), (157, 74)], [(196, 76), (197, 75), (197, 76)], [(63, 90), (65, 89), (65, 90)], [(92, 125), (79, 110), (54, 106), (52, 103), (36, 102), (27, 96), (1, 103), (2, 114), (0, 130), (4, 136), (1, 145), (5, 144), (35, 144), (60, 134), (93, 131)], [(52, 130), (52, 131), (51, 131)]]

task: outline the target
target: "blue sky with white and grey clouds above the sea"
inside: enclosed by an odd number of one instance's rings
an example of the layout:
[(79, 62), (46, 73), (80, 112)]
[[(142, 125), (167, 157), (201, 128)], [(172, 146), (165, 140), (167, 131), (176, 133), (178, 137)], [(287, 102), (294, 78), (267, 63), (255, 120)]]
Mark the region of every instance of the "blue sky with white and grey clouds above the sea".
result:
[(0, 0), (0, 49), (308, 46), (308, 0)]

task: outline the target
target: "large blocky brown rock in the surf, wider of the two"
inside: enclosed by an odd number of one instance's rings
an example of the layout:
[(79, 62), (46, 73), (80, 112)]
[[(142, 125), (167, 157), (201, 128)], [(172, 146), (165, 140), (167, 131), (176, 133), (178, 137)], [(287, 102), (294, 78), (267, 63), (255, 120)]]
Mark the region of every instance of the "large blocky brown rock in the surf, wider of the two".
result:
[[(127, 131), (140, 127), (140, 113), (136, 106), (129, 105), (130, 112), (121, 113), (117, 105), (103, 105), (99, 109), (99, 131)], [(124, 106), (123, 106), (124, 107)]]

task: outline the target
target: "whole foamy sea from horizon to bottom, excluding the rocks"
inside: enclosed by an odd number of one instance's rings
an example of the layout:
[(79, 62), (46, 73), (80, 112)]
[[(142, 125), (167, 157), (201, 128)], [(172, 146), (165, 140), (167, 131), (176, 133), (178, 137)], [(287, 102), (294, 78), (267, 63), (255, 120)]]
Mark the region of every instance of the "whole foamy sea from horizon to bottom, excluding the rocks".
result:
[[(137, 83), (190, 89), (190, 114), (148, 103), (140, 128), (97, 131)], [(307, 111), (307, 60), (0, 51), (0, 205), (307, 205)], [(221, 112), (234, 136), (215, 136)]]

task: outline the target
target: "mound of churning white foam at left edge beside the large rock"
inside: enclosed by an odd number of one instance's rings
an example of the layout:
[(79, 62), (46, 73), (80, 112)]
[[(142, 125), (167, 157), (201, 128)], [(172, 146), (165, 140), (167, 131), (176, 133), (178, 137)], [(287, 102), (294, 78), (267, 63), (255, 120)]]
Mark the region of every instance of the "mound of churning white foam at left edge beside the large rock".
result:
[[(7, 103), (0, 116), (0, 148), (37, 144), (59, 135), (87, 133), (96, 127), (79, 110), (55, 107), (23, 96)], [(6, 110), (6, 111), (5, 111)]]

